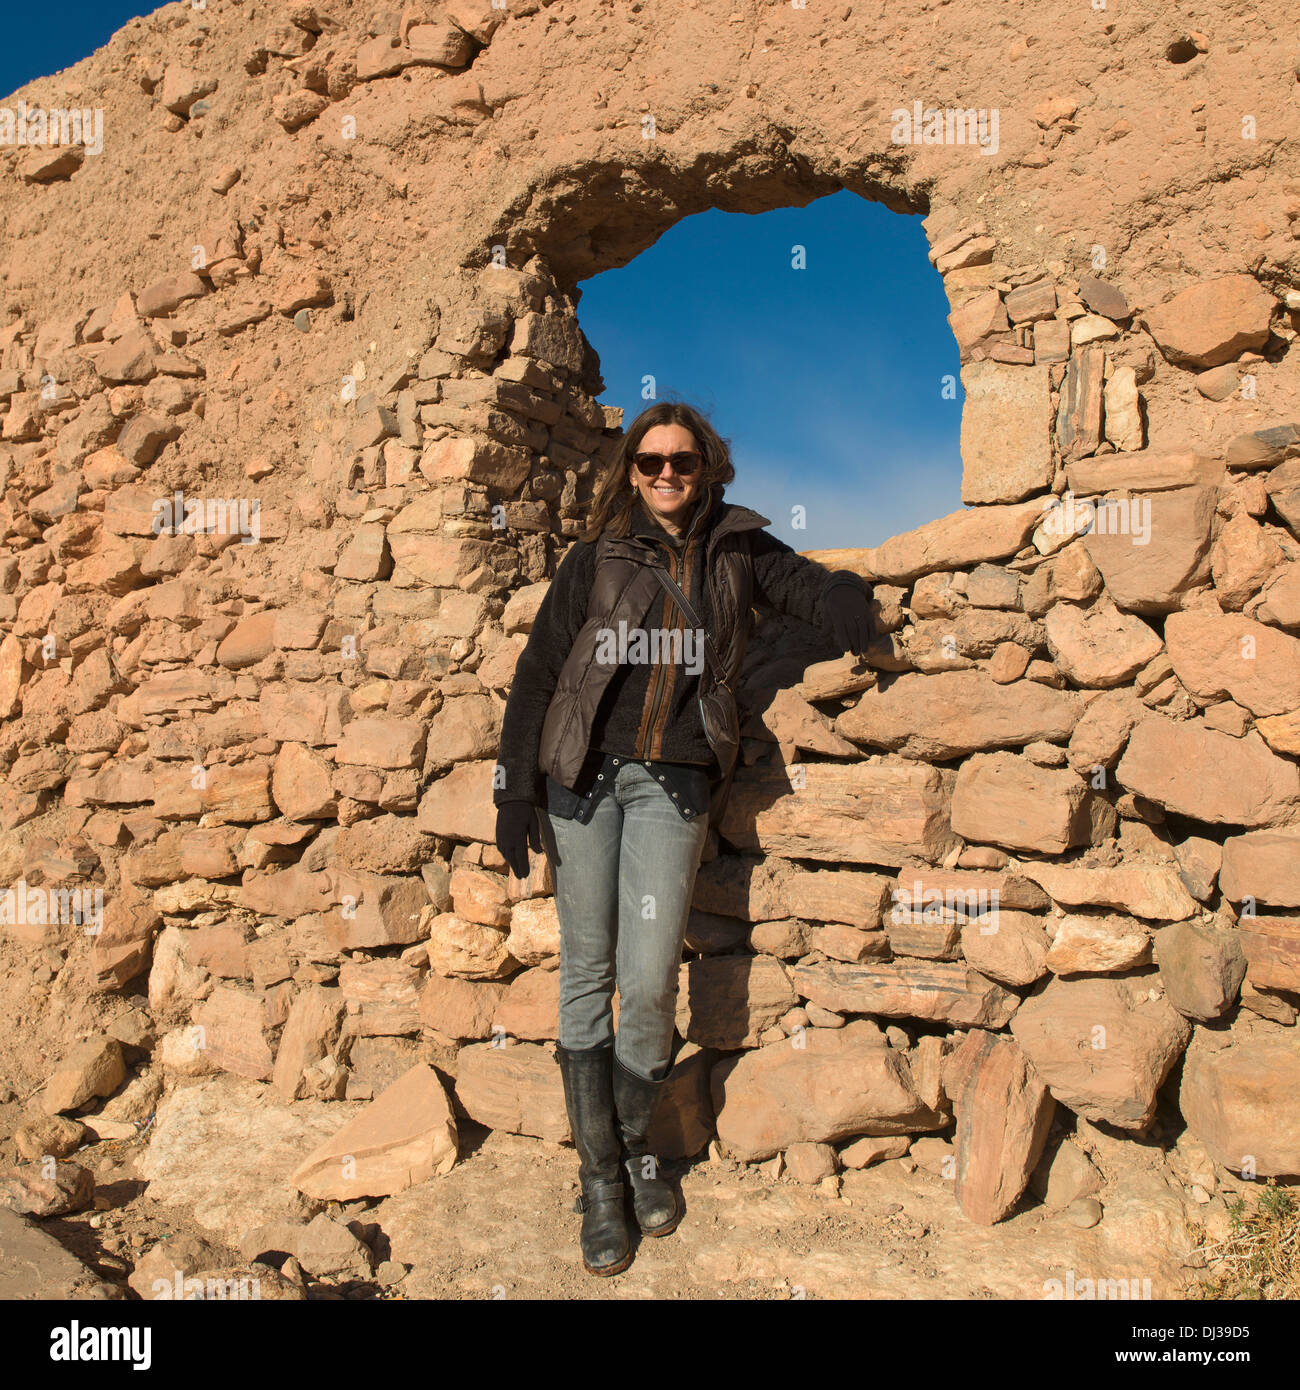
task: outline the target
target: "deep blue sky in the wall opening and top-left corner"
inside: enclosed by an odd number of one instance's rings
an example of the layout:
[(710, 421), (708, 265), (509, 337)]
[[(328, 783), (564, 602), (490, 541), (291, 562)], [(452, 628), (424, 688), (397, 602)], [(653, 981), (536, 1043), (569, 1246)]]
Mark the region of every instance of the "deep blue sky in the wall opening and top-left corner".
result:
[[(13, 6), (8, 93), (103, 46), (156, 6), (70, 0), (57, 22)], [(806, 267), (793, 268), (794, 247)], [(578, 318), (601, 354), (603, 403), (630, 424), (658, 396), (709, 413), (731, 441), (733, 502), (799, 550), (877, 545), (961, 506), (961, 389), (943, 284), (919, 217), (850, 192), (772, 213), (712, 208), (627, 265), (583, 282)], [(801, 506), (806, 528), (791, 524)]]

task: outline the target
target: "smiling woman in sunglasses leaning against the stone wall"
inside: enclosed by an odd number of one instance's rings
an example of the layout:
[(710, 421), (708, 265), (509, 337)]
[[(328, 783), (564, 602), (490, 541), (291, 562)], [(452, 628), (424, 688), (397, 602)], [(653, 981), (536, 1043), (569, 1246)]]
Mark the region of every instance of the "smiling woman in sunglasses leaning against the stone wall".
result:
[(870, 637), (862, 580), (829, 574), (762, 530), (766, 517), (724, 503), (734, 477), (690, 406), (637, 417), (537, 612), (502, 723), (498, 848), (523, 878), (528, 849), (545, 847), (555, 874), (556, 1058), (594, 1275), (631, 1262), (624, 1173), (644, 1234), (681, 1219), (648, 1136), (695, 872), (740, 745), (733, 688), (751, 605), (822, 627), (838, 651)]

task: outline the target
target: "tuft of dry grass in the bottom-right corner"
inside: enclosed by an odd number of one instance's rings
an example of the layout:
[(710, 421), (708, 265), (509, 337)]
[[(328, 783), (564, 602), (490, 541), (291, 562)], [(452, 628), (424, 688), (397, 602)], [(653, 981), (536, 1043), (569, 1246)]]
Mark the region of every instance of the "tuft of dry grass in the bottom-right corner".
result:
[(1189, 1290), (1193, 1300), (1300, 1298), (1300, 1201), (1269, 1179), (1254, 1201), (1228, 1204), (1232, 1232), (1201, 1245), (1212, 1273)]

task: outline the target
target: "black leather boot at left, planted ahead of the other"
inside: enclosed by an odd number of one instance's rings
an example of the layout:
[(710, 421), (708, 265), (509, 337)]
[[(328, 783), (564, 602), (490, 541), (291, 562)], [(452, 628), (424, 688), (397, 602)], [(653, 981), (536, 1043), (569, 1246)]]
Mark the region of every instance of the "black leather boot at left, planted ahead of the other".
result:
[(569, 1127), (578, 1151), (583, 1191), (573, 1209), (583, 1213), (583, 1265), (590, 1275), (617, 1275), (631, 1264), (633, 1251), (615, 1130), (613, 1044), (577, 1052), (556, 1044), (555, 1058), (560, 1065)]

